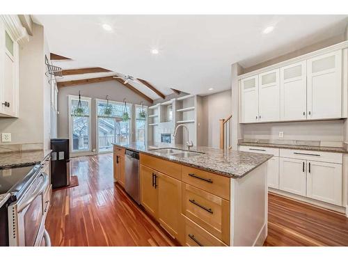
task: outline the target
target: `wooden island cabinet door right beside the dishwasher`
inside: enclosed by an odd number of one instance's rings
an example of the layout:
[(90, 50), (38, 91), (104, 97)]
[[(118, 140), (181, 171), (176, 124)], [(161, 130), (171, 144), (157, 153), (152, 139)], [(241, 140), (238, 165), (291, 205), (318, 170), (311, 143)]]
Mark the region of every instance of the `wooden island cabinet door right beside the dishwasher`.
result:
[[(140, 167), (140, 191), (141, 191), (141, 205), (153, 216), (158, 219), (158, 189), (155, 182), (157, 182), (157, 173), (146, 166)], [(156, 179), (156, 180), (155, 180)]]

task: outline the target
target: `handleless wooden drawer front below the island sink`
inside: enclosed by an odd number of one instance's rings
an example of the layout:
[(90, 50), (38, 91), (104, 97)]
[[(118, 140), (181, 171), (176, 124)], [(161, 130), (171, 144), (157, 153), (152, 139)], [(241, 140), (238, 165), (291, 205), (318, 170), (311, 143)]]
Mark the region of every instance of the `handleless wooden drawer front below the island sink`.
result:
[(181, 180), (180, 164), (176, 164), (165, 159), (159, 159), (157, 157), (145, 155), (143, 153), (140, 154), (140, 163), (145, 166), (149, 166), (150, 168), (153, 168), (156, 171), (174, 177), (177, 180)]

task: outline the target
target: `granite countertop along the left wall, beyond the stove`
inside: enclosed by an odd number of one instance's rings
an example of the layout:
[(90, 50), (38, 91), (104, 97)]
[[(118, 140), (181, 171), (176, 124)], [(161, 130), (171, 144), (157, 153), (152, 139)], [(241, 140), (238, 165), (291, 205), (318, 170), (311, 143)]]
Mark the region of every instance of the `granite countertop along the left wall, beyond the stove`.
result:
[(40, 163), (52, 150), (26, 150), (0, 153), (0, 169)]

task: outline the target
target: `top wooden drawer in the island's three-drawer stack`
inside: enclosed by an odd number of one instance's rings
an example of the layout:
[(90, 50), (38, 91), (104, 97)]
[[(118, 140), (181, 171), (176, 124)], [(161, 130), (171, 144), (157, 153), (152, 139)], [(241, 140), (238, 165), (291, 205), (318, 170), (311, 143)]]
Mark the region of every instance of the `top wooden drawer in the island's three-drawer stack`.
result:
[(182, 181), (230, 200), (230, 178), (182, 166)]

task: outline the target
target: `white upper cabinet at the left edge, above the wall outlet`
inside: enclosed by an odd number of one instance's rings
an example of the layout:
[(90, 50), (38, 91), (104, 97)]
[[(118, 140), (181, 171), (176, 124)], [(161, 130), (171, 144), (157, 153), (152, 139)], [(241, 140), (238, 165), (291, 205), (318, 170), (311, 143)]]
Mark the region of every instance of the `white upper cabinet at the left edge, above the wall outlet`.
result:
[(0, 116), (17, 117), (19, 105), (19, 48), (0, 21)]

